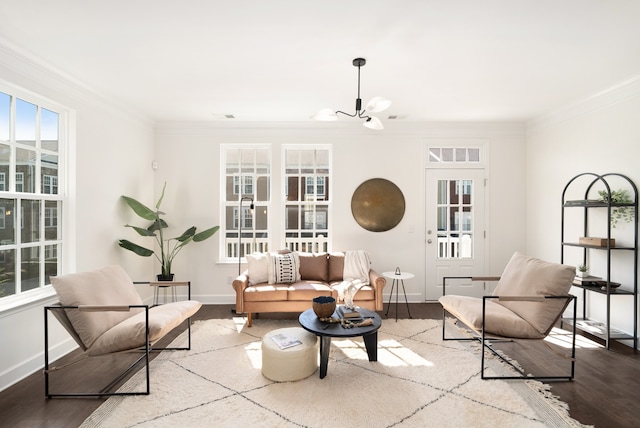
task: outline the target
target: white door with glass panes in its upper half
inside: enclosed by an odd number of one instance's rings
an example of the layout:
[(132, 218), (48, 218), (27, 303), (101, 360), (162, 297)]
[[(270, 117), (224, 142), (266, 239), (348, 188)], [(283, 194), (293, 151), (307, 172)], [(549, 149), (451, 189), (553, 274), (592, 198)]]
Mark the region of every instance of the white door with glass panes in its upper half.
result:
[[(485, 271), (485, 174), (483, 169), (427, 169), (426, 300), (442, 296), (445, 276), (482, 276)], [(479, 297), (483, 287), (448, 280), (447, 294)]]

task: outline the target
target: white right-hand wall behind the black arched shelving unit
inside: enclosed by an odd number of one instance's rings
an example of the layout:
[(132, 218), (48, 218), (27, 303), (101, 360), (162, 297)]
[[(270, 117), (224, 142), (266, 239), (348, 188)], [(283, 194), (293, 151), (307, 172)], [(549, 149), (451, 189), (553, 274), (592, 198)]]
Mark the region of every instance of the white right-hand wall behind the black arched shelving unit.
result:
[[(580, 100), (529, 124), (527, 137), (527, 250), (548, 260), (560, 260), (561, 195), (577, 174), (621, 173), (640, 185), (640, 78)], [(617, 187), (614, 187), (616, 189)], [(627, 225), (614, 230), (618, 241), (629, 240)], [(614, 235), (615, 237), (615, 235)], [(573, 262), (573, 264), (580, 261)], [(565, 260), (570, 264), (571, 260)], [(628, 272), (615, 272), (629, 287)], [(592, 270), (593, 275), (604, 272)], [(615, 280), (615, 279), (614, 279)], [(582, 296), (580, 290), (574, 294)], [(605, 297), (592, 295), (591, 315), (604, 319)], [(633, 301), (612, 298), (612, 325), (633, 332)]]

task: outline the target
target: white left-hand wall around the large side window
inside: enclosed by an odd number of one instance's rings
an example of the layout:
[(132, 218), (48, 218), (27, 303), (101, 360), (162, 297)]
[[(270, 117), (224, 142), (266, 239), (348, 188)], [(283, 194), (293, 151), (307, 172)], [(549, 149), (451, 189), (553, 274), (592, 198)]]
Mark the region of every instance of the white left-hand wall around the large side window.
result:
[[(128, 221), (120, 195), (153, 195), (150, 122), (2, 45), (0, 79), (75, 112), (77, 128), (69, 156), (77, 168), (68, 180), (75, 202), (64, 206), (65, 218), (72, 220), (65, 224), (72, 232), (63, 249), (65, 271), (122, 264), (133, 277), (147, 278), (153, 272), (151, 261), (125, 257), (117, 239), (124, 237)], [(147, 288), (140, 290), (145, 297), (150, 295)], [(0, 390), (42, 367), (42, 308), (55, 302), (52, 294), (26, 306), (0, 308)], [(55, 356), (74, 344), (56, 321), (52, 325)]]

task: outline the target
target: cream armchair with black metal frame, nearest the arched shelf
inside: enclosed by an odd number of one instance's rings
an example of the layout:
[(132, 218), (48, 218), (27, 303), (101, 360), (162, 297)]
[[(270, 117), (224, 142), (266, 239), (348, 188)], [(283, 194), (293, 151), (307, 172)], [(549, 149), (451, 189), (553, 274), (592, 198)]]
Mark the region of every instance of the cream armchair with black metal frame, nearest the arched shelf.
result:
[[(500, 277), (464, 277), (472, 281), (497, 280), (498, 285), (490, 296), (482, 298), (447, 295), (446, 283), (461, 277), (443, 279), (443, 296), (439, 301), (443, 308), (443, 340), (479, 340), (482, 344), (482, 379), (539, 379), (572, 380), (575, 367), (575, 316), (576, 299), (569, 294), (575, 278), (575, 268), (542, 261), (521, 253), (515, 253)], [(546, 338), (560, 320), (563, 312), (573, 302), (572, 347), (570, 373), (567, 375), (528, 375), (512, 364), (492, 346), (492, 342), (503, 340), (542, 340)], [(471, 339), (446, 337), (447, 314), (462, 322), (471, 330)], [(519, 375), (485, 375), (485, 349), (511, 365)]]

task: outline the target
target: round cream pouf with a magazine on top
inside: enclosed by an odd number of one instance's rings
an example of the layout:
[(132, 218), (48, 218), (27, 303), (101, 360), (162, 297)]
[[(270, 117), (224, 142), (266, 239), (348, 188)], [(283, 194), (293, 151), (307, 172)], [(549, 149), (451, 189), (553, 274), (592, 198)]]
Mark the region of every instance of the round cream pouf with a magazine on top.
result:
[[(272, 336), (296, 338), (301, 344), (280, 349)], [(318, 338), (303, 328), (271, 331), (262, 338), (262, 374), (276, 382), (290, 382), (311, 376), (318, 369)]]

